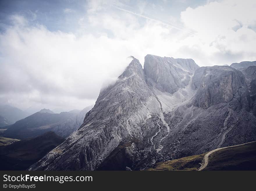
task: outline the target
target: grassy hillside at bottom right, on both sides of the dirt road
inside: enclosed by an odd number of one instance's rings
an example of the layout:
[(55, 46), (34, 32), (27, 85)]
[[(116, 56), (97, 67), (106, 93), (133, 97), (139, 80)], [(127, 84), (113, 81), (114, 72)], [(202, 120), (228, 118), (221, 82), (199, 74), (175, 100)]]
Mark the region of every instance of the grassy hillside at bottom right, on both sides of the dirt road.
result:
[[(157, 163), (146, 170), (198, 170), (205, 154)], [(212, 153), (204, 170), (256, 170), (256, 142)]]

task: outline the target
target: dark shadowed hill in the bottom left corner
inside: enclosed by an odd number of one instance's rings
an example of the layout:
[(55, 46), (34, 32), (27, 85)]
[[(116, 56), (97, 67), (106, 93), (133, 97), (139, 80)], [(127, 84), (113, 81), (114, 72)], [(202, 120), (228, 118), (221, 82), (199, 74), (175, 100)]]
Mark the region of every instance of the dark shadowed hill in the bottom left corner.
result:
[(26, 170), (63, 141), (63, 138), (49, 131), (32, 139), (1, 146), (0, 170)]

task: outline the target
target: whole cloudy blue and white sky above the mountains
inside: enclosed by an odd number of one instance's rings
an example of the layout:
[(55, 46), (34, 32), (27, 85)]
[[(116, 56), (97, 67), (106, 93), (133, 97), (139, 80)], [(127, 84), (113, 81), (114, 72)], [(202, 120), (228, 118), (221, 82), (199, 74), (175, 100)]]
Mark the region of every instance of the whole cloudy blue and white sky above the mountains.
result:
[(255, 0), (1, 0), (0, 104), (82, 109), (134, 56), (256, 60)]

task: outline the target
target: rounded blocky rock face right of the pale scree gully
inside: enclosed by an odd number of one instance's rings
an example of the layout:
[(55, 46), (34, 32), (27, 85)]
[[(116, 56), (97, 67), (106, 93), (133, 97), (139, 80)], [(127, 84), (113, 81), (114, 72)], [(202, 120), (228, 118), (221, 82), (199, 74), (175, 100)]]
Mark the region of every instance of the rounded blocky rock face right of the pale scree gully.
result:
[[(243, 99), (240, 108), (248, 106), (245, 78), (242, 73), (228, 66), (201, 67), (192, 79), (195, 90), (195, 106), (209, 108), (218, 103), (228, 103), (232, 99)], [(234, 97), (239, 94), (240, 96)], [(236, 102), (236, 103), (234, 103)], [(239, 100), (232, 100), (233, 107), (239, 106)], [(235, 108), (234, 108), (235, 109)]]

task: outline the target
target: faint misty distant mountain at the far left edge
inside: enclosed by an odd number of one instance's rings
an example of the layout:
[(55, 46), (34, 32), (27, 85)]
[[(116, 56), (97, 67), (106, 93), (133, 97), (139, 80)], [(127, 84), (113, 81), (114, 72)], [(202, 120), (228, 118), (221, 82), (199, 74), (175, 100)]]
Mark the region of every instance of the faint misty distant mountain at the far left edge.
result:
[(0, 106), (0, 115), (6, 118), (9, 121), (9, 124), (14, 124), (16, 121), (29, 116), (28, 113), (8, 105)]

